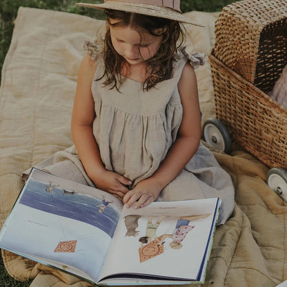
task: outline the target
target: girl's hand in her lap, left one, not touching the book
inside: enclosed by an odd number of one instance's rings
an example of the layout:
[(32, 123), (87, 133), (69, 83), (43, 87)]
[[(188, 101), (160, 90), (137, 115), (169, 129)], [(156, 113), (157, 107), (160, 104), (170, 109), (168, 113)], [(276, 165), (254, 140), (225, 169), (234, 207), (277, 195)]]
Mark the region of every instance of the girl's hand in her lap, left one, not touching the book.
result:
[(132, 184), (132, 181), (126, 179), (126, 177), (110, 170), (103, 170), (97, 177), (92, 177), (91, 179), (97, 188), (109, 192), (120, 199), (123, 199), (129, 191), (127, 186)]

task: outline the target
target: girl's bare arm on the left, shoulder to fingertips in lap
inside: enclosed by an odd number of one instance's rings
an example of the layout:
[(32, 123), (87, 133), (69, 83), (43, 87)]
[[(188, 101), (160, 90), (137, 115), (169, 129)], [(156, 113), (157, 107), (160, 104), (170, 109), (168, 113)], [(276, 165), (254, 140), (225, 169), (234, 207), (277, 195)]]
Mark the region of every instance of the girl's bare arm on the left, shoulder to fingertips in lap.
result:
[(97, 65), (88, 54), (83, 58), (79, 68), (77, 89), (72, 111), (71, 131), (79, 157), (88, 176), (97, 188), (123, 197), (130, 181), (115, 172), (106, 170), (101, 162), (99, 148), (92, 133), (95, 119), (95, 102), (92, 98), (92, 79)]

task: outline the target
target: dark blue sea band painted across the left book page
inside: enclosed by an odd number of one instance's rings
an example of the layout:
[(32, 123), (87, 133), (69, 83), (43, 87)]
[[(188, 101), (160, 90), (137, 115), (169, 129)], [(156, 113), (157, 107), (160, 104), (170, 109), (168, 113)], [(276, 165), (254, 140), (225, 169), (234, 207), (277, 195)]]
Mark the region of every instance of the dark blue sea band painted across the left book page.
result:
[(119, 212), (108, 204), (101, 211), (103, 199), (81, 195), (58, 186), (30, 179), (19, 203), (45, 212), (79, 220), (100, 228), (110, 237), (114, 234)]

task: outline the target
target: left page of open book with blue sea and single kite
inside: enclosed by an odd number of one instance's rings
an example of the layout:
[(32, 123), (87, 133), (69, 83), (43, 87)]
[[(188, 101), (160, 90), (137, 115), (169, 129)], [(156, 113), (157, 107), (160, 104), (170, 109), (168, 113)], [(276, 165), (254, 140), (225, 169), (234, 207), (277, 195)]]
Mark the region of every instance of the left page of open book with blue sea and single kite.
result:
[[(0, 233), (0, 247), (95, 281), (117, 226), (121, 201), (33, 169)], [(79, 274), (77, 274), (79, 275)]]

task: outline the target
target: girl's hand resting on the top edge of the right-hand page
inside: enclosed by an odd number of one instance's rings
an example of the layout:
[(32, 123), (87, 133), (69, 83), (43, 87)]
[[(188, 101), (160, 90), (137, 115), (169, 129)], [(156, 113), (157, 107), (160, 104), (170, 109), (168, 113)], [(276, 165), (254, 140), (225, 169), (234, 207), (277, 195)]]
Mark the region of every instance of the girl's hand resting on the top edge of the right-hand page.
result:
[(144, 179), (140, 181), (134, 189), (126, 193), (123, 197), (123, 204), (126, 204), (126, 208), (130, 208), (132, 204), (135, 204), (135, 209), (148, 206), (152, 201), (157, 200), (161, 189), (162, 188), (152, 182), (151, 179)]

